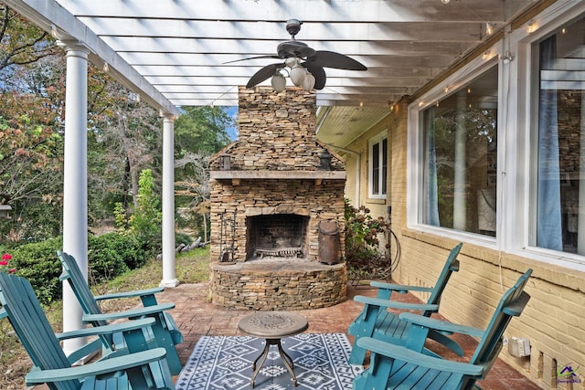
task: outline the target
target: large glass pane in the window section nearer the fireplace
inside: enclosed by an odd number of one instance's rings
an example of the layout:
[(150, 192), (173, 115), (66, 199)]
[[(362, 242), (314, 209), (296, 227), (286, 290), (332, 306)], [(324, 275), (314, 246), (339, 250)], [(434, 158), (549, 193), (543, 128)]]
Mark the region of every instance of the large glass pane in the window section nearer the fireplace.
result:
[(497, 67), (422, 112), (420, 222), (495, 236)]

